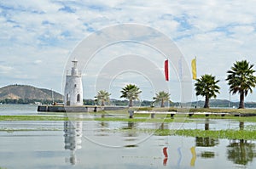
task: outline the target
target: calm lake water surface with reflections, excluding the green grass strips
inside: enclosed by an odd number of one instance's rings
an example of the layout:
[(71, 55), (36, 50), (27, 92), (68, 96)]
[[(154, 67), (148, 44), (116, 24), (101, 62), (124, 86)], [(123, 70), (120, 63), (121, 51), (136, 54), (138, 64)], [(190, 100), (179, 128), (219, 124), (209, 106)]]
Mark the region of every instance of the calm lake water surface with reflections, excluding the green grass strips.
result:
[[(37, 115), (35, 105), (0, 105), (0, 115)], [(254, 123), (245, 122), (244, 126)], [(3, 168), (256, 168), (256, 142), (155, 136), (135, 129), (237, 129), (232, 120), (0, 121)], [(6, 131), (3, 131), (5, 129)], [(166, 150), (165, 150), (166, 149)], [(168, 155), (166, 157), (166, 155)]]

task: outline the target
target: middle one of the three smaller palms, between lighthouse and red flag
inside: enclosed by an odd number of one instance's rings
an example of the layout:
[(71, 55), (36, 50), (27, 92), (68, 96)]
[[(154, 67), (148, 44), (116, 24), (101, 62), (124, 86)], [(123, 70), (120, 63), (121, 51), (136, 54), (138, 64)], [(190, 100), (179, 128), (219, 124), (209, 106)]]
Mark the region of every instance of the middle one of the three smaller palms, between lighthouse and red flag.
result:
[(120, 98), (129, 100), (129, 107), (132, 107), (132, 101), (138, 99), (139, 93), (142, 93), (139, 87), (133, 84), (128, 84), (121, 90), (122, 95)]

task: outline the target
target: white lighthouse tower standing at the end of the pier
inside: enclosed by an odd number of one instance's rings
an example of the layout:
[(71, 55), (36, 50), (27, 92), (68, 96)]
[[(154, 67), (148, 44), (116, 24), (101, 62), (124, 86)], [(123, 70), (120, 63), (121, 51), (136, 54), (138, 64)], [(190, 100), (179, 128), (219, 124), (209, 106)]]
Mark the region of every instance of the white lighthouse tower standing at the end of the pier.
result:
[(66, 85), (64, 92), (65, 105), (77, 106), (83, 105), (83, 85), (81, 72), (78, 70), (78, 60), (73, 59), (71, 74), (66, 76)]

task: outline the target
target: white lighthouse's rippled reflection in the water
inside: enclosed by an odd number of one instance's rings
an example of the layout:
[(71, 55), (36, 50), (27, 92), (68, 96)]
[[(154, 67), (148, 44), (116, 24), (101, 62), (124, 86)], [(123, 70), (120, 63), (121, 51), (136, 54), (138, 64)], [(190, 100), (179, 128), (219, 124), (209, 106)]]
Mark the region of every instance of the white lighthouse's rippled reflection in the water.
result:
[[(76, 119), (81, 118), (80, 115), (75, 115)], [(64, 143), (65, 149), (70, 150), (70, 157), (66, 162), (72, 165), (77, 163), (76, 150), (82, 148), (82, 133), (83, 121), (64, 121)]]

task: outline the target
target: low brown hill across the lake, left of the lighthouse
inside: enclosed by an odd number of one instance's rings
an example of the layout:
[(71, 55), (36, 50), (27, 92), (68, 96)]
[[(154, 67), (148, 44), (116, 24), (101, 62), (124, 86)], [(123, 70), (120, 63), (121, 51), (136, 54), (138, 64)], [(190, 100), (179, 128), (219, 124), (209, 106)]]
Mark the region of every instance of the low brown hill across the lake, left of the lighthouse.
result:
[[(63, 96), (60, 93), (54, 91), (53, 96), (55, 100), (63, 99)], [(52, 100), (52, 91), (28, 85), (9, 85), (0, 88), (0, 100), (3, 99)]]

